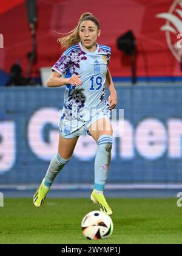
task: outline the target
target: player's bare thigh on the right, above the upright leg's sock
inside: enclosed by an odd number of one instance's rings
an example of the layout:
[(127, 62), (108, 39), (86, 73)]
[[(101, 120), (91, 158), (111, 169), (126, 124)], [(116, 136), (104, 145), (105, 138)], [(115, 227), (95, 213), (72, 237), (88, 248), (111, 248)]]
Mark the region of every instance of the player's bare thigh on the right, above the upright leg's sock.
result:
[(98, 138), (104, 134), (112, 136), (112, 124), (108, 118), (98, 119), (89, 127), (89, 133), (97, 142)]

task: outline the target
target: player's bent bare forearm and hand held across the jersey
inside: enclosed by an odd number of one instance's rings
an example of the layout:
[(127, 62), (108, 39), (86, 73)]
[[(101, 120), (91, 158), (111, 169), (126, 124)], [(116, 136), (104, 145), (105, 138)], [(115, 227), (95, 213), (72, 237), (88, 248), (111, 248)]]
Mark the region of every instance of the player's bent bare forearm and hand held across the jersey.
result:
[(60, 87), (62, 85), (70, 84), (70, 85), (81, 85), (82, 82), (80, 80), (80, 75), (71, 76), (69, 78), (61, 77), (61, 74), (53, 71), (49, 79), (47, 80), (47, 87)]

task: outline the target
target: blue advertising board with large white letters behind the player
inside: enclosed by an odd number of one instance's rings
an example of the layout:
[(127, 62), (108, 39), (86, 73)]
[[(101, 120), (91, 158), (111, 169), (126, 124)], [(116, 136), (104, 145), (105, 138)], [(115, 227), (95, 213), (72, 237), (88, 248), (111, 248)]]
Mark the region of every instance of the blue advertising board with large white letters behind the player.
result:
[[(182, 182), (182, 86), (116, 87), (122, 127), (113, 136), (107, 183)], [(109, 96), (107, 91), (106, 96)], [(0, 93), (0, 185), (39, 183), (58, 148), (64, 88), (12, 87)], [(122, 111), (121, 111), (122, 113)], [(56, 183), (93, 183), (97, 145), (79, 137)]]

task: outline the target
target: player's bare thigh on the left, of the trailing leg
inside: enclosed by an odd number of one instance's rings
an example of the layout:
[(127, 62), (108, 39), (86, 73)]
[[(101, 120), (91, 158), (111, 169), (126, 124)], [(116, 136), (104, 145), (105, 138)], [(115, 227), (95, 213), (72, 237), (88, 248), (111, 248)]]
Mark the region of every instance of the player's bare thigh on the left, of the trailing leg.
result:
[(78, 138), (79, 136), (74, 138), (62, 138), (59, 135), (58, 154), (61, 155), (62, 158), (70, 158), (73, 154)]

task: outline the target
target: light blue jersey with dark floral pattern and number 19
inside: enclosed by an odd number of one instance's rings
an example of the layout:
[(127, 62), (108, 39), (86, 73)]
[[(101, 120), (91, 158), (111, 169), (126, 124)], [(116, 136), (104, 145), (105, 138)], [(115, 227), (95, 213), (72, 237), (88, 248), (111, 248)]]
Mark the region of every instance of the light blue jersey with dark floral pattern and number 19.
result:
[(109, 46), (96, 44), (96, 51), (86, 51), (81, 43), (68, 48), (52, 67), (53, 71), (70, 77), (81, 75), (83, 84), (66, 85), (62, 119), (89, 121), (105, 110), (110, 112), (105, 98), (107, 66), (111, 51)]

